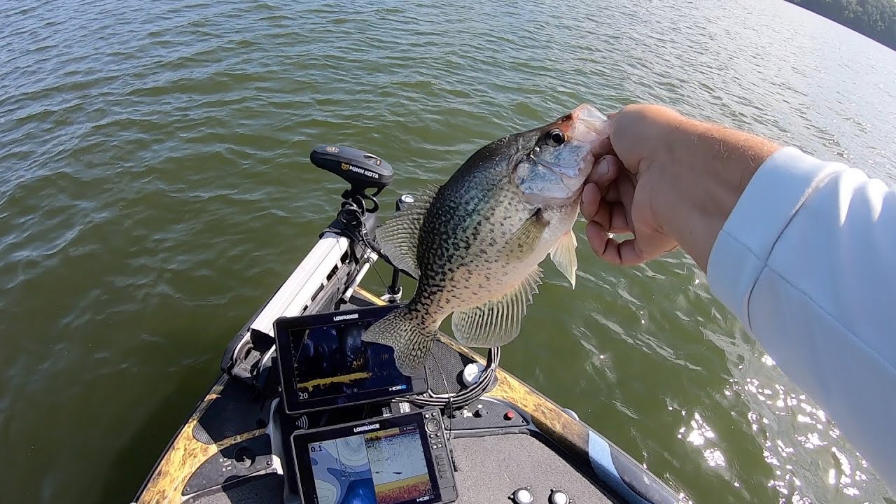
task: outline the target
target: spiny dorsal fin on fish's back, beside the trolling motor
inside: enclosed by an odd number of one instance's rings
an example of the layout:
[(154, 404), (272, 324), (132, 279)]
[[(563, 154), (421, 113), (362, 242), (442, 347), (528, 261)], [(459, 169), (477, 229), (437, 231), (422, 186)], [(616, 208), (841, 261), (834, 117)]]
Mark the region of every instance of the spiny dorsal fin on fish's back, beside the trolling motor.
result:
[(396, 212), (392, 218), (376, 228), (376, 241), (392, 263), (414, 278), (420, 277), (417, 265), (417, 244), (420, 226), (429, 204), (433, 202), (438, 187), (427, 186), (414, 195), (414, 203), (407, 204)]

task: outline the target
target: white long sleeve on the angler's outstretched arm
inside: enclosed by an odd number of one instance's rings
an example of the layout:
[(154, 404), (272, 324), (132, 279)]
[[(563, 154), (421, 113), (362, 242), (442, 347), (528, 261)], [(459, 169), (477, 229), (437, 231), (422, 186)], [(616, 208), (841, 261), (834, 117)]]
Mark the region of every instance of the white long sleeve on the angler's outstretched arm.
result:
[(896, 490), (896, 189), (794, 147), (716, 239), (711, 291)]

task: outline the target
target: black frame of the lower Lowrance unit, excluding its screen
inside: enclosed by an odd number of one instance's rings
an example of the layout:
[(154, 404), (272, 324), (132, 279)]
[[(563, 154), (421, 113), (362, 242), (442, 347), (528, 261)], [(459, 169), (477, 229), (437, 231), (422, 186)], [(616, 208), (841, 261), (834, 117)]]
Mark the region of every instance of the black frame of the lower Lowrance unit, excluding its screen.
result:
[[(369, 434), (380, 430), (395, 429), (405, 425), (415, 424), (417, 425), (420, 445), (423, 446), (423, 459), (424, 462), (426, 462), (426, 473), (429, 474), (429, 486), (433, 489), (432, 497), (426, 500), (426, 502), (435, 504), (442, 502), (442, 488), (440, 487), (438, 475), (435, 473), (433, 449), (427, 442), (428, 437), (426, 436), (426, 425), (424, 423), (425, 419), (423, 418), (424, 411), (387, 416), (375, 420), (344, 423), (342, 425), (325, 427), (322, 429), (297, 430), (293, 433), (290, 443), (292, 444), (293, 470), (296, 471), (298, 492), (302, 496), (303, 501), (306, 504), (317, 503), (317, 487), (314, 485), (314, 471), (311, 468), (311, 454), (308, 451), (308, 445), (331, 439), (340, 439), (358, 434)], [(437, 411), (436, 414), (438, 414)], [(372, 425), (375, 423), (380, 424), (379, 428), (355, 432), (355, 429), (360, 426)], [(303, 482), (307, 483), (303, 484)], [(418, 502), (418, 499), (419, 498), (404, 500), (396, 502), (395, 504), (410, 504), (412, 502)]]

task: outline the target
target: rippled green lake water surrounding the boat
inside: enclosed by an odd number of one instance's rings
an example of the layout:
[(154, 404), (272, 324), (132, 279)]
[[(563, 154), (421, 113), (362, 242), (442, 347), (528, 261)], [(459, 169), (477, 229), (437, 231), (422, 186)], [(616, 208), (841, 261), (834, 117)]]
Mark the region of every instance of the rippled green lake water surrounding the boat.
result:
[[(8, 0), (0, 19), (4, 502), (134, 495), (331, 221), (342, 183), (314, 144), (391, 161), (391, 201), (582, 101), (656, 101), (896, 180), (896, 53), (781, 0)], [(575, 291), (545, 266), (507, 369), (695, 502), (894, 502), (689, 258), (579, 261)]]

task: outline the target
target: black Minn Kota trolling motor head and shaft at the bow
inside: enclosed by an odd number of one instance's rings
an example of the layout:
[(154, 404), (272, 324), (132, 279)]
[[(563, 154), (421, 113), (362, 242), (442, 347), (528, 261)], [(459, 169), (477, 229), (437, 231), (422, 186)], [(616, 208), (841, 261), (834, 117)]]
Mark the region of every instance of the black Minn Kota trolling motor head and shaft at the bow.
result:
[[(392, 165), (382, 158), (347, 145), (318, 145), (309, 156), (314, 166), (325, 169), (349, 183), (350, 188), (342, 192), (342, 204), (338, 216), (342, 224), (339, 231), (357, 243), (363, 243), (377, 256), (392, 265), (392, 284), (387, 288), (386, 300), (395, 302), (401, 298), (399, 274), (401, 271), (392, 264), (374, 240), (367, 236), (367, 229), (375, 226), (375, 213), (380, 209), (376, 196), (392, 183)], [(367, 194), (373, 189), (372, 194)], [(367, 207), (367, 203), (371, 206)], [(401, 200), (396, 202), (399, 209)], [(407, 274), (407, 272), (404, 272)]]

